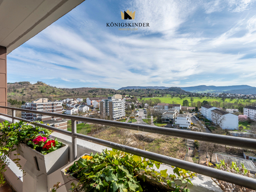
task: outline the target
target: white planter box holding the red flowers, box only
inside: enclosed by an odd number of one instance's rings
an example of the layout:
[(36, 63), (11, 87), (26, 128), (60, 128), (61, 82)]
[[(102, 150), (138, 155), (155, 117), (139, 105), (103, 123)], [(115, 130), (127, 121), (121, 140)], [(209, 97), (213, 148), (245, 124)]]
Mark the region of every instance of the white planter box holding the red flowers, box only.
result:
[(35, 169), (39, 169), (45, 175), (49, 175), (66, 165), (69, 157), (68, 145), (66, 144), (62, 144), (62, 147), (58, 150), (43, 155), (28, 145), (21, 143), (17, 148), (17, 152), (34, 165)]

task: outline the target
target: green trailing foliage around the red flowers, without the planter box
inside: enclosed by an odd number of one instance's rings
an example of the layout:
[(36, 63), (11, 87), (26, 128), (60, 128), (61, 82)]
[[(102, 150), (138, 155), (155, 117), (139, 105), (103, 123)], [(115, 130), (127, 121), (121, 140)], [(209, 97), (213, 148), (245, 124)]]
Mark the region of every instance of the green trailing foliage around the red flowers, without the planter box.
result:
[[(42, 122), (41, 122), (42, 123)], [(38, 136), (50, 137), (52, 131), (44, 129), (42, 127), (34, 126), (32, 123), (17, 122), (10, 124), (8, 121), (0, 123), (0, 186), (5, 183), (3, 173), (6, 171), (6, 166), (10, 163), (10, 157), (13, 151), (17, 150), (17, 146), (20, 143), (31, 145), (31, 142)], [(59, 143), (58, 143), (59, 144)], [(35, 150), (40, 151), (40, 148), (35, 148)], [(41, 151), (40, 151), (41, 152)], [(42, 150), (42, 154), (47, 154), (51, 150)], [(22, 170), (20, 165), (19, 155), (12, 159), (16, 163), (17, 167)], [(22, 170), (23, 171), (23, 170)], [(23, 171), (23, 174), (25, 172)], [(20, 178), (19, 178), (20, 179)]]

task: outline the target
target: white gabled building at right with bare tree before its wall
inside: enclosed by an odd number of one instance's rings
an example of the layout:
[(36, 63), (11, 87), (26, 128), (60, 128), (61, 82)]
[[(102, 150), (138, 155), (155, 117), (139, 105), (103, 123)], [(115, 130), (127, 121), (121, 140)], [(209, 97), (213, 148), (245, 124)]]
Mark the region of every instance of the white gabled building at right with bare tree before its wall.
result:
[(211, 111), (211, 120), (215, 125), (219, 125), (221, 129), (238, 130), (239, 127), (238, 116), (221, 109)]

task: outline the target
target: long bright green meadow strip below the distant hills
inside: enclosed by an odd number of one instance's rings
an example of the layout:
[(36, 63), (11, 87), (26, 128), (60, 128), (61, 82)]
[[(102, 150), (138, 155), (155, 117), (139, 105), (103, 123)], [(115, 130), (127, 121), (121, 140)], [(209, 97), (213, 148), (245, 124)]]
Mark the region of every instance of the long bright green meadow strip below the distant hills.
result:
[[(187, 101), (189, 101), (189, 104), (191, 104), (191, 101), (190, 101), (190, 97), (186, 97), (184, 99), (180, 99), (179, 97), (154, 97), (155, 99), (160, 99), (160, 101), (162, 103), (166, 103), (166, 104), (172, 104), (172, 102), (174, 102), (175, 104), (180, 104), (182, 105), (183, 104), (183, 100), (187, 99)], [(145, 97), (145, 98), (142, 98), (142, 100), (149, 100), (149, 99), (154, 99), (153, 97)], [(221, 98), (207, 98), (207, 97), (202, 97), (201, 99), (199, 97), (193, 97), (194, 98), (194, 103), (196, 103), (197, 101), (218, 101), (218, 102), (223, 102)], [(255, 100), (252, 100), (252, 101), (255, 101)], [(239, 101), (237, 101), (237, 99), (232, 99), (230, 100), (229, 98), (225, 99), (225, 102), (230, 102), (230, 103), (236, 103), (236, 102), (239, 102), (239, 103), (244, 103), (246, 102), (246, 100), (244, 99), (239, 99)]]

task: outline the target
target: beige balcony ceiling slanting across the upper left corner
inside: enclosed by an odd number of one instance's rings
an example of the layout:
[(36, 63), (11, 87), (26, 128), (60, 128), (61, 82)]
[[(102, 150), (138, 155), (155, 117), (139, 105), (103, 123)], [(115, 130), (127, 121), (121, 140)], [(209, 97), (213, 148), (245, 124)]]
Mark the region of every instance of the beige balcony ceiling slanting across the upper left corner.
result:
[(8, 54), (85, 0), (0, 0), (0, 46)]

